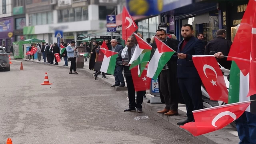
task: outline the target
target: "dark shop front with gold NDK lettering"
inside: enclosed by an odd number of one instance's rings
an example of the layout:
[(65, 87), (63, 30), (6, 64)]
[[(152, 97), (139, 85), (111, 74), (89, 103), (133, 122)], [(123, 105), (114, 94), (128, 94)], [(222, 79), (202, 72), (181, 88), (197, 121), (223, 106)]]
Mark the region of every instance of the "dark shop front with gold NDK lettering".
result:
[(248, 0), (240, 0), (220, 3), (222, 28), (227, 31), (228, 40), (234, 40), (237, 25), (242, 21), (248, 2)]

